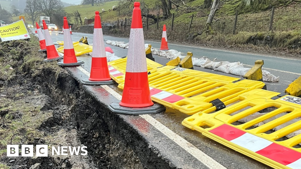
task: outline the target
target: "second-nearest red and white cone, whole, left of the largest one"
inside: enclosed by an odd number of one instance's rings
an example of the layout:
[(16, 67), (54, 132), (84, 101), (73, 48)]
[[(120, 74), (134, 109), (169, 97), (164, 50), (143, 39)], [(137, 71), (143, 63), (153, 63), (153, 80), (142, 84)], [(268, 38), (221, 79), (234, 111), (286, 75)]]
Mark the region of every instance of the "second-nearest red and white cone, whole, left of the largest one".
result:
[(102, 34), (99, 11), (95, 11), (90, 78), (88, 80), (82, 80), (81, 82), (83, 84), (92, 85), (113, 84), (110, 78), (106, 51), (104, 49), (104, 37)]

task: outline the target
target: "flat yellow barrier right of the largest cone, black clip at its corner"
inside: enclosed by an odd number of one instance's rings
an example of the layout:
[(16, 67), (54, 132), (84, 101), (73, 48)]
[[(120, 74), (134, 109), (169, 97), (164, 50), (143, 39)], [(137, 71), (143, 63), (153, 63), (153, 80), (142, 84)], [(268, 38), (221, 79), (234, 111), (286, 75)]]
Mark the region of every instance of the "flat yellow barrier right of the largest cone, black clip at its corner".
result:
[[(194, 114), (214, 105), (214, 109), (222, 109), (223, 102), (265, 86), (261, 81), (240, 80), (174, 66), (157, 69), (148, 75), (148, 81), (153, 101), (186, 114)], [(123, 89), (123, 85), (120, 83), (118, 87)]]

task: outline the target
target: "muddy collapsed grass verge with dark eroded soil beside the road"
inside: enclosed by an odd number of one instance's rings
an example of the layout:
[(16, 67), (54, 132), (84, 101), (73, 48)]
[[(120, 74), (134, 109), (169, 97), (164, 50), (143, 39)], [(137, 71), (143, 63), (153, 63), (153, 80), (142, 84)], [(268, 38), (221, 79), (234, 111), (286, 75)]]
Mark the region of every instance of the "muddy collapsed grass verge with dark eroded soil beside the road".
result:
[[(139, 155), (143, 141), (118, 139), (107, 110), (38, 49), (36, 37), (0, 44), (0, 168), (170, 168), (149, 149)], [(48, 145), (48, 157), (7, 157), (8, 144)], [(87, 146), (88, 155), (51, 155), (51, 146)]]

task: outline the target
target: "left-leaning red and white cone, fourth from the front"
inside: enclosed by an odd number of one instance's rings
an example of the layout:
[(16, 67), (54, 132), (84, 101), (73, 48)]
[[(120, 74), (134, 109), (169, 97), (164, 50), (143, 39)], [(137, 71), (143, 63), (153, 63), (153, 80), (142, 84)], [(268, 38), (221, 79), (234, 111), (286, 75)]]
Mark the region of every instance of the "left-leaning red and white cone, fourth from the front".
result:
[(43, 22), (43, 29), (44, 29), (44, 35), (45, 35), (45, 42), (46, 42), (46, 49), (47, 49), (47, 59), (44, 59), (44, 62), (49, 62), (52, 60), (59, 60), (63, 58), (63, 56), (59, 56), (57, 53), (57, 50), (53, 44), (53, 41), (51, 39), (48, 27), (45, 23), (45, 20), (42, 20)]

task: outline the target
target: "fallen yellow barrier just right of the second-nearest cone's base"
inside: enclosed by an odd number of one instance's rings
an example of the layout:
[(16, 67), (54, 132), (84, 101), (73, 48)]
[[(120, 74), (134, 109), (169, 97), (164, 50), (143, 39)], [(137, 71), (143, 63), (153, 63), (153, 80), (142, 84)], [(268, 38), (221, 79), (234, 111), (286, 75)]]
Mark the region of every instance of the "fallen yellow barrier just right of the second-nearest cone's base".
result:
[[(108, 62), (110, 76), (118, 84), (124, 82), (125, 73), (126, 73), (126, 60), (127, 60), (127, 57)], [(146, 58), (146, 63), (147, 63), (147, 71), (148, 72), (153, 72), (158, 67), (163, 66), (163, 65), (161, 65), (157, 62), (154, 62), (148, 58)]]

